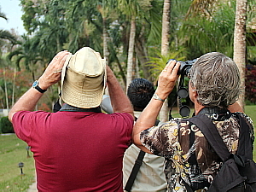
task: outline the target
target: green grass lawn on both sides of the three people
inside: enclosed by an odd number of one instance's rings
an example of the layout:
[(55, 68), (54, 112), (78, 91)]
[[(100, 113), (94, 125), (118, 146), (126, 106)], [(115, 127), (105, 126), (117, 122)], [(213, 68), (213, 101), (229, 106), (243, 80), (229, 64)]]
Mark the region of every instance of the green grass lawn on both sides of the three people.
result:
[[(256, 106), (246, 106), (245, 113), (253, 119), (256, 128)], [(179, 117), (176, 111), (172, 112), (173, 117)], [(255, 130), (256, 132), (256, 130)], [(15, 135), (0, 136), (0, 191), (26, 191), (35, 180), (34, 160), (32, 152), (27, 158), (26, 143)], [(256, 161), (256, 142), (254, 142), (253, 160)], [(24, 163), (23, 173), (20, 174), (18, 164)]]

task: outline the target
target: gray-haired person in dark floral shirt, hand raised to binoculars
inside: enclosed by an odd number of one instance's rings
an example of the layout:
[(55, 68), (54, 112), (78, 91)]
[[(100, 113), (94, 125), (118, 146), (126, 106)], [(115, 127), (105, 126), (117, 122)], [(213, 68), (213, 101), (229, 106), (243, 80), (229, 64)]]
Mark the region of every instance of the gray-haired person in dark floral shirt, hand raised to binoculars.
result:
[[(168, 191), (207, 191), (223, 162), (197, 125), (189, 119), (172, 119), (154, 126), (163, 101), (176, 84), (179, 67), (172, 60), (160, 73), (155, 96), (137, 119), (132, 139), (143, 151), (165, 157)], [(241, 125), (237, 116), (241, 117), (252, 140), (247, 147), (253, 148), (253, 122), (236, 102), (240, 92), (236, 63), (224, 54), (207, 53), (195, 61), (189, 73), (195, 116), (204, 114), (211, 119), (231, 154), (238, 148)]]

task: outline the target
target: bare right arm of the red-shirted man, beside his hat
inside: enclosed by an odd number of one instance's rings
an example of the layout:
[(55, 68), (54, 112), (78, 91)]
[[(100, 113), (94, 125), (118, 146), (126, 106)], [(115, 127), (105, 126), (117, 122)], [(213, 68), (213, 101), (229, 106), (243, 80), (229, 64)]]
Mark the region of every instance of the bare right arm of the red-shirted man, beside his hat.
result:
[(133, 116), (133, 108), (128, 96), (120, 86), (110, 67), (107, 66), (108, 93), (110, 96), (113, 113), (130, 113)]

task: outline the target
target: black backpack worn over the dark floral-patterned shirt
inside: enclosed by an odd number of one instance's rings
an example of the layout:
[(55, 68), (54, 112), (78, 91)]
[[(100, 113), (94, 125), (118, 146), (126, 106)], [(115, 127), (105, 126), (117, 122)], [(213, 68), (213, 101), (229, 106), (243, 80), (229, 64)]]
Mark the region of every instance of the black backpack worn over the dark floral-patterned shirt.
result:
[[(247, 137), (249, 138), (249, 134), (247, 134), (249, 128), (248, 125), (246, 125), (247, 123), (245, 119), (242, 119), (240, 115), (240, 137), (236, 152), (237, 155), (230, 154), (228, 148), (224, 144), (224, 141), (218, 134), (216, 126), (213, 125), (211, 119), (209, 119), (206, 115), (199, 114), (189, 120), (197, 125), (203, 135), (207, 138), (207, 141), (210, 143), (213, 150), (224, 161), (224, 165), (221, 167), (216, 177), (214, 177), (208, 191), (230, 191), (230, 189), (232, 189), (232, 191), (244, 191), (239, 189), (244, 189), (245, 182), (252, 183), (252, 190), (249, 189), (248, 191), (255, 191), (256, 186), (253, 185), (253, 183), (256, 182), (255, 163), (252, 160), (244, 161), (241, 156), (242, 154), (240, 155), (237, 153), (239, 150), (249, 150), (243, 146), (243, 143), (245, 143), (247, 146), (248, 141), (251, 141), (250, 139), (245, 141)], [(245, 137), (244, 134), (247, 134), (247, 136)]]

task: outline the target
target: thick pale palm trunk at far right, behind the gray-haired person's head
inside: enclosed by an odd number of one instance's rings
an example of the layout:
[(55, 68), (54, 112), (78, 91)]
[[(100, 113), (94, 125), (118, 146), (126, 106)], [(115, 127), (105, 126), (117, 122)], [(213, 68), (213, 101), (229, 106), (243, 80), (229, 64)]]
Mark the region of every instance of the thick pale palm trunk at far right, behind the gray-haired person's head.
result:
[(241, 108), (244, 108), (245, 100), (246, 19), (247, 0), (236, 0), (233, 60), (236, 62), (241, 74), (241, 95), (239, 96), (238, 100)]

